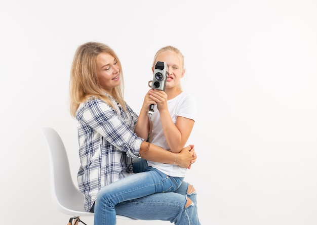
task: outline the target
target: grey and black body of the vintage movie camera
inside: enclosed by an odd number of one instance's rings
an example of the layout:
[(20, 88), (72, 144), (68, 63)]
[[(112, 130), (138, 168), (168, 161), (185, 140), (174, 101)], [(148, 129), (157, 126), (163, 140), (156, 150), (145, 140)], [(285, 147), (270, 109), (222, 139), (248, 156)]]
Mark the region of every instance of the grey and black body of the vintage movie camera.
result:
[(168, 75), (168, 66), (166, 62), (157, 61), (153, 71), (152, 89), (165, 91)]

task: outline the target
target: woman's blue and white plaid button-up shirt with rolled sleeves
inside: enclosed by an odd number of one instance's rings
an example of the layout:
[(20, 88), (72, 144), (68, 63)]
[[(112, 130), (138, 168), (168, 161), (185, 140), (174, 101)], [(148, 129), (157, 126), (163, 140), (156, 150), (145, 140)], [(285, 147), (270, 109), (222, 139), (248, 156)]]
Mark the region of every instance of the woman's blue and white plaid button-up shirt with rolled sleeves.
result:
[(78, 107), (76, 119), (81, 166), (77, 174), (85, 210), (93, 206), (98, 191), (133, 172), (132, 158), (139, 156), (141, 143), (133, 132), (138, 115), (128, 113), (113, 100), (120, 115), (100, 99), (89, 99)]

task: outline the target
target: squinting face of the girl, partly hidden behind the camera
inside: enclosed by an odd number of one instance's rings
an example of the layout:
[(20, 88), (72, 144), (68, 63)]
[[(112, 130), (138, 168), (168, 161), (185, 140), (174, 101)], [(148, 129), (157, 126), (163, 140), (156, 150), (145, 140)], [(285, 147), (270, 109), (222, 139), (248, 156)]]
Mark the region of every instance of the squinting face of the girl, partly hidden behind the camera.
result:
[[(185, 70), (181, 65), (181, 61), (177, 53), (173, 51), (165, 51), (157, 55), (156, 62), (166, 62), (168, 66), (168, 76), (166, 82), (166, 88), (172, 88), (178, 85), (180, 78), (184, 76)], [(154, 67), (152, 67), (154, 71)]]

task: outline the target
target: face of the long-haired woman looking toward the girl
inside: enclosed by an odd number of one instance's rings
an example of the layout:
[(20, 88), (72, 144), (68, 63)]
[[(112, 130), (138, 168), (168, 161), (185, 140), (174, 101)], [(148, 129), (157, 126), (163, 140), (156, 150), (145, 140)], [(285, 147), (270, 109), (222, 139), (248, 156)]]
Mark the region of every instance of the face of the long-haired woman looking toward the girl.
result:
[(97, 56), (97, 75), (99, 84), (105, 92), (111, 94), (112, 88), (120, 85), (120, 66), (115, 58), (108, 53), (100, 53)]

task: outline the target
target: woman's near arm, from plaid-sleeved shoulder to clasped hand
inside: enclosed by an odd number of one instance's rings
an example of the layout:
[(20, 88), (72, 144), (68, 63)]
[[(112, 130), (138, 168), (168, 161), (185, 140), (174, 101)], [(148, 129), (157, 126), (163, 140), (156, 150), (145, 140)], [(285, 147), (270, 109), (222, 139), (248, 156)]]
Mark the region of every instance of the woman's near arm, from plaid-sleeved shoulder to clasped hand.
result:
[[(99, 114), (95, 115), (96, 112), (99, 112)], [(94, 99), (88, 103), (81, 120), (89, 124), (90, 127), (94, 127), (110, 145), (125, 151), (128, 157), (135, 158), (140, 156), (151, 161), (170, 164), (173, 164), (176, 158), (175, 163), (185, 168), (190, 166), (196, 159), (193, 150), (193, 152), (188, 152), (188, 146), (184, 148), (187, 149), (186, 151), (182, 151), (179, 154), (169, 152), (152, 144), (148, 148), (148, 142), (137, 137), (129, 126), (124, 125), (122, 123), (123, 120), (116, 113), (113, 113), (112, 108), (100, 99)], [(107, 123), (107, 126), (104, 125), (105, 123)], [(120, 130), (120, 132), (117, 132), (117, 130)], [(139, 145), (140, 149), (139, 147), (135, 148), (136, 145)]]

